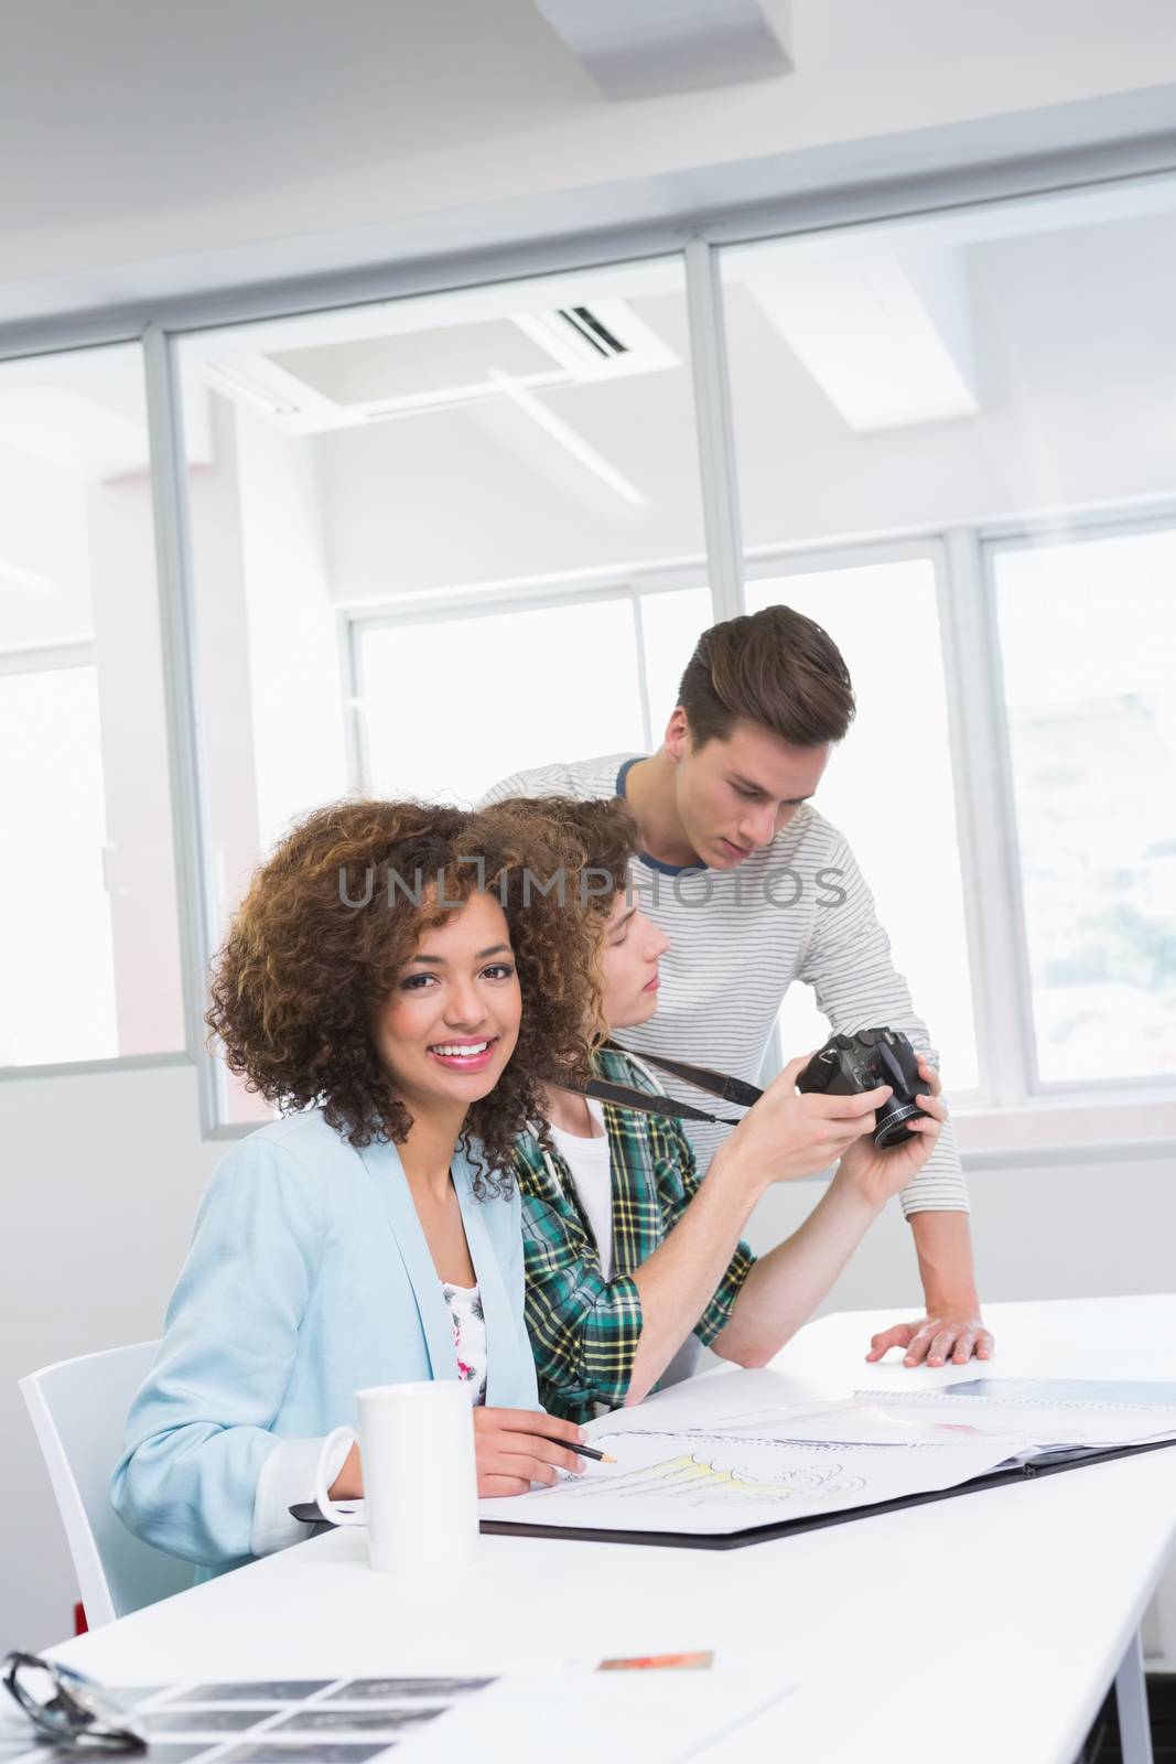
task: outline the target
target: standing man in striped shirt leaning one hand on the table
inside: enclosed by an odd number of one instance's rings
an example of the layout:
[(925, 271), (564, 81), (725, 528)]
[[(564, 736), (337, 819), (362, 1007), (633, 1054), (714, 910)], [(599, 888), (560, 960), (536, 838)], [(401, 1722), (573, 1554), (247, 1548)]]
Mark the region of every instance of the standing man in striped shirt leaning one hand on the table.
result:
[[(656, 1016), (621, 1037), (636, 1055), (755, 1081), (785, 991), (800, 979), (836, 1032), (887, 1025), (934, 1065), (853, 856), (809, 806), (852, 716), (832, 639), (788, 607), (767, 607), (703, 632), (658, 753), (543, 766), (487, 794), (615, 794), (633, 811), (642, 852), (631, 884), (670, 940)], [(674, 1080), (666, 1088), (702, 1101)], [(705, 1171), (723, 1129), (691, 1125), (689, 1138)], [(896, 1346), (906, 1365), (987, 1358), (950, 1122), (901, 1200), (926, 1312), (875, 1335), (867, 1360)]]

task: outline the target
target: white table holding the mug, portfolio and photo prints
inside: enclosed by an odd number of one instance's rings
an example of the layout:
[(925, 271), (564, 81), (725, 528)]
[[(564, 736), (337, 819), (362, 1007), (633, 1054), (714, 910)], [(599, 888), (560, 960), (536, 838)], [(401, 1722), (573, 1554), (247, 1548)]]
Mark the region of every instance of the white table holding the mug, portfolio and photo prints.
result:
[[(864, 1365), (897, 1316), (823, 1318), (778, 1369), (797, 1399), (968, 1376)], [(993, 1376), (1176, 1378), (1176, 1297), (989, 1319)], [(365, 1535), (337, 1531), (56, 1653), (143, 1685), (776, 1646), (799, 1690), (707, 1752), (726, 1764), (1072, 1764), (1118, 1672), (1125, 1759), (1143, 1764), (1137, 1628), (1174, 1531), (1176, 1448), (728, 1552), (483, 1538), (462, 1589), (370, 1573)], [(480, 1633), (453, 1621), (458, 1598)]]

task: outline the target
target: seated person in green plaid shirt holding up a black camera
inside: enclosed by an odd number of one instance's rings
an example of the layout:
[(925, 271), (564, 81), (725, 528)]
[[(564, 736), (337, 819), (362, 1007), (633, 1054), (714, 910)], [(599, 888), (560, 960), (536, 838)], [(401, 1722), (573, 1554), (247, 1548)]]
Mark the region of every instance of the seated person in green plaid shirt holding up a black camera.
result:
[[(578, 834), (585, 873), (610, 877), (599, 901), (601, 1023), (647, 1021), (668, 940), (626, 896), (636, 826), (617, 799), (513, 799), (559, 813)], [(548, 1088), (547, 1122), (515, 1141), (522, 1191), (525, 1318), (540, 1401), (550, 1415), (589, 1420), (598, 1406), (640, 1402), (684, 1344), (739, 1365), (763, 1365), (811, 1316), (885, 1201), (924, 1166), (947, 1110), (920, 1060), (926, 1117), (908, 1145), (869, 1138), (887, 1087), (855, 1097), (799, 1095), (792, 1060), (714, 1155), (705, 1182), (682, 1127), (665, 1115), (599, 1104)], [(633, 1055), (598, 1048), (599, 1078), (658, 1094)], [(837, 1164), (804, 1224), (755, 1258), (741, 1242), (774, 1182)], [(677, 1362), (675, 1362), (677, 1364)]]

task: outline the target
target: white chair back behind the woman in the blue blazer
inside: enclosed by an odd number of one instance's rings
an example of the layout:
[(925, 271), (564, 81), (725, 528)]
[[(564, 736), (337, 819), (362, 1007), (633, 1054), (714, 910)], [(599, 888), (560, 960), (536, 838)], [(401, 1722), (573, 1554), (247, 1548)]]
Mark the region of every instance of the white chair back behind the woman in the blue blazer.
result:
[(141, 1341), (86, 1353), (19, 1381), (92, 1630), (192, 1584), (192, 1563), (127, 1531), (109, 1498), (127, 1409), (157, 1348), (157, 1341)]

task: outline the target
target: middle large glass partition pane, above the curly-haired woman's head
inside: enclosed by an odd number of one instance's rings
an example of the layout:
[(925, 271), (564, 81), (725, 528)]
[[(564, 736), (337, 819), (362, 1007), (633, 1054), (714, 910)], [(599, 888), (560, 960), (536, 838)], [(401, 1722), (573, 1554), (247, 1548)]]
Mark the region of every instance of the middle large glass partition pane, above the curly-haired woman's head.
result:
[[(647, 743), (631, 584), (705, 579), (681, 258), (206, 330), (180, 362), (217, 937), (356, 783), (471, 799)], [(652, 616), (658, 665), (695, 607)]]

